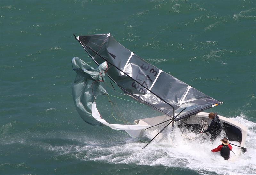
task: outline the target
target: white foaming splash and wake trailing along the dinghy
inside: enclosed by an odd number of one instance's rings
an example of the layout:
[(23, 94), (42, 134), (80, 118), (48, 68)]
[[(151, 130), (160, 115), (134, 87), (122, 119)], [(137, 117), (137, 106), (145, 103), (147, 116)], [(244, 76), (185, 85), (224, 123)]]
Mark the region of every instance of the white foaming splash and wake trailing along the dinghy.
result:
[[(165, 166), (188, 168), (200, 174), (215, 172), (218, 174), (253, 174), (256, 171), (256, 125), (242, 117), (233, 120), (248, 127), (246, 144), (247, 153), (242, 153), (235, 161), (224, 160), (219, 153), (210, 152), (220, 144), (219, 139), (210, 143), (199, 143), (184, 140), (180, 137), (179, 128), (169, 128), (169, 134), (164, 140), (149, 144), (141, 149), (145, 143), (137, 142), (132, 138), (126, 138), (122, 143), (102, 145), (100, 141), (85, 140), (83, 146), (45, 146), (45, 149), (58, 152), (60, 155), (74, 156), (82, 161), (103, 161), (113, 164), (137, 164), (146, 166)], [(81, 141), (80, 140), (80, 141)], [(175, 144), (171, 145), (171, 141)], [(237, 143), (235, 143), (237, 144)], [(233, 147), (235, 148), (235, 147)], [(231, 153), (232, 154), (232, 153)]]

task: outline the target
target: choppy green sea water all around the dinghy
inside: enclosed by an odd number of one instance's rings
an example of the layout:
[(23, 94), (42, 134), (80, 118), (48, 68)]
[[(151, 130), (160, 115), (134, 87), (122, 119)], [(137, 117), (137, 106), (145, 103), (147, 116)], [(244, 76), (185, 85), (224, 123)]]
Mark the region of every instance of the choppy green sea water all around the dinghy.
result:
[[(71, 60), (96, 65), (73, 33), (111, 33), (150, 64), (223, 101), (207, 112), (248, 127), (248, 152), (223, 162), (189, 145), (142, 150), (136, 139), (85, 123), (72, 99)], [(256, 173), (254, 0), (0, 0), (0, 49), (0, 174)], [(100, 112), (109, 117), (104, 100)], [(126, 116), (155, 114), (121, 100), (118, 108)]]

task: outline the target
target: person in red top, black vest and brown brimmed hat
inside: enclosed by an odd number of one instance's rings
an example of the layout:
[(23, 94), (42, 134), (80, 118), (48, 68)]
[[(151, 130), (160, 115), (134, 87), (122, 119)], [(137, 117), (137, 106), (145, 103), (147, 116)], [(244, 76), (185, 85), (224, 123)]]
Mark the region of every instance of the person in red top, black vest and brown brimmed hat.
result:
[(211, 151), (214, 153), (220, 151), (220, 155), (224, 157), (225, 160), (228, 160), (230, 158), (230, 150), (232, 150), (232, 146), (229, 144), (229, 141), (226, 138), (223, 138), (220, 141), (222, 144)]

